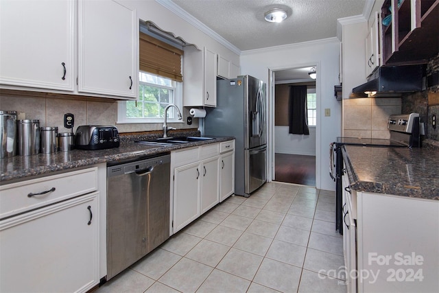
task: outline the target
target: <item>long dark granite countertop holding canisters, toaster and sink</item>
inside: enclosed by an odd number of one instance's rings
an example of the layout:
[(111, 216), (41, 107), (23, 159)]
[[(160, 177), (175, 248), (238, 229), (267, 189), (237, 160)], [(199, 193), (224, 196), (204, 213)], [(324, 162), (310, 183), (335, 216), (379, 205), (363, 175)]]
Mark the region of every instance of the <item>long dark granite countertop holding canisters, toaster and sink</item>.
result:
[(86, 167), (110, 161), (137, 159), (143, 156), (169, 153), (173, 150), (191, 148), (198, 145), (229, 141), (234, 137), (215, 137), (206, 141), (193, 141), (177, 145), (145, 145), (135, 143), (134, 139), (150, 137), (121, 137), (119, 148), (107, 150), (71, 150), (54, 154), (36, 154), (33, 156), (13, 156), (0, 159), (0, 185), (31, 178), (32, 176), (51, 175), (78, 167)]

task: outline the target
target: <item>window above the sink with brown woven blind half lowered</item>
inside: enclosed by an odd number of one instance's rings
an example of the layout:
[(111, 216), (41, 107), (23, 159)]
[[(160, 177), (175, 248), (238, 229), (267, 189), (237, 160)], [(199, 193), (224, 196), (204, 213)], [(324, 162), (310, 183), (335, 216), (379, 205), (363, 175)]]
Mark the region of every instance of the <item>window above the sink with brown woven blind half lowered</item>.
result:
[[(182, 55), (174, 45), (140, 33), (139, 99), (119, 102), (118, 123), (160, 123), (166, 106), (182, 108)], [(174, 108), (167, 111), (167, 120), (181, 121)]]

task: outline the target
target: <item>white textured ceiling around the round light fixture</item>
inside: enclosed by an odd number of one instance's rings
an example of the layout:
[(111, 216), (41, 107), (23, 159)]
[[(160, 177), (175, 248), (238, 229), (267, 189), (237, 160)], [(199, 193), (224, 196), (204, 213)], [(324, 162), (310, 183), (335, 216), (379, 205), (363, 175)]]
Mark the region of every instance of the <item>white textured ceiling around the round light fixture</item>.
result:
[[(366, 1), (172, 0), (241, 51), (335, 37), (337, 19), (363, 14)], [(272, 8), (288, 18), (268, 23), (264, 13)]]

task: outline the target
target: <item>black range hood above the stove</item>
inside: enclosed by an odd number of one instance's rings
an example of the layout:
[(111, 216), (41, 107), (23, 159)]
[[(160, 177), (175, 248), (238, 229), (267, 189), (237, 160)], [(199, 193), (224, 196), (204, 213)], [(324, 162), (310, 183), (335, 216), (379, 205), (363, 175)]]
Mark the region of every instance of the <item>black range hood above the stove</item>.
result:
[(376, 92), (370, 97), (394, 97), (402, 93), (423, 90), (425, 65), (381, 66), (370, 75), (368, 82), (352, 89), (352, 92)]

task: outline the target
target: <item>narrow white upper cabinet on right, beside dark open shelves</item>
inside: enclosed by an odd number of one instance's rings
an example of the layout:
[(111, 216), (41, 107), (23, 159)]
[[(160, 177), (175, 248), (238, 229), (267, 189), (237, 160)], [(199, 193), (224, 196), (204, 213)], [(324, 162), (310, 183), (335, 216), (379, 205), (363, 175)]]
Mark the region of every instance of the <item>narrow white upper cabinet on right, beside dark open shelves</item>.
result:
[(366, 77), (379, 67), (381, 61), (379, 50), (379, 16), (375, 12), (375, 18), (369, 27), (368, 36), (366, 38)]

